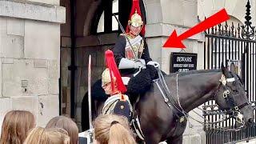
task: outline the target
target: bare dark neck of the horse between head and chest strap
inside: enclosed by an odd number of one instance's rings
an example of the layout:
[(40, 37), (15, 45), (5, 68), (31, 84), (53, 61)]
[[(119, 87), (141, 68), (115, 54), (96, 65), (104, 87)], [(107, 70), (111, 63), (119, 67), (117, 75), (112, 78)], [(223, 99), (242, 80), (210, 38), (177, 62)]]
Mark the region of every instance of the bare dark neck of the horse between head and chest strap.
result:
[(178, 78), (178, 95), (187, 112), (214, 99), (221, 72), (189, 74)]

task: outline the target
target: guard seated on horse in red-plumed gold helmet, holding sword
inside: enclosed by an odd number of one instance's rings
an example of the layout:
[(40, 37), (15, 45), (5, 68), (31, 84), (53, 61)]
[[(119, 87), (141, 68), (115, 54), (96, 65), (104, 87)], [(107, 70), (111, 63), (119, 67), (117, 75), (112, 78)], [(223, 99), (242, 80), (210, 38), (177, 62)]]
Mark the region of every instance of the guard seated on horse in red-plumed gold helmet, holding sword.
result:
[[(124, 83), (128, 85), (128, 92), (140, 94), (145, 92), (146, 87), (150, 86), (152, 80), (156, 78), (157, 71), (155, 68), (160, 65), (150, 58), (146, 39), (143, 37), (145, 28), (138, 0), (133, 2), (126, 32), (119, 21), (118, 23), (122, 34), (120, 34), (113, 49), (115, 62), (122, 74)], [(135, 78), (137, 74), (140, 75)], [(134, 78), (130, 82), (132, 76)]]

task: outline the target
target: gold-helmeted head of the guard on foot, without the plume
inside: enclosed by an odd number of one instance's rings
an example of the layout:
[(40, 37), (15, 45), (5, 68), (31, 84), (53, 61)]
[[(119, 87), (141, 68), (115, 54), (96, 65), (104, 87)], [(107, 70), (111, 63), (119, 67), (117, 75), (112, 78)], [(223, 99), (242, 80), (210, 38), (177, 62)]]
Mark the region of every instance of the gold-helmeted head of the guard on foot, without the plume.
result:
[[(114, 88), (112, 88), (111, 79), (114, 81)], [(115, 91), (117, 91), (116, 87), (116, 78), (114, 77), (114, 74), (112, 73), (112, 78), (110, 76), (110, 69), (106, 68), (102, 72), (102, 89), (105, 90), (106, 94), (113, 94)]]

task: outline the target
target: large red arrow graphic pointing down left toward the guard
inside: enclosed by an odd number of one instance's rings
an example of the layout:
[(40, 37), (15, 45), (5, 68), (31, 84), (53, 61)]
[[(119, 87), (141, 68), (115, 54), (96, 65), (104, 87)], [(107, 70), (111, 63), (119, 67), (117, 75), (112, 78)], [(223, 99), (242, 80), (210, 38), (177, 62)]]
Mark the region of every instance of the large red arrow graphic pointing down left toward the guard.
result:
[(194, 34), (198, 34), (204, 30), (209, 29), (212, 26), (216, 26), (219, 23), (225, 22), (230, 17), (226, 13), (225, 9), (222, 9), (218, 11), (218, 13), (210, 16), (209, 18), (206, 18), (204, 21), (198, 23), (198, 25), (192, 27), (190, 30), (187, 30), (185, 33), (181, 35), (177, 35), (176, 30), (172, 34), (170, 34), (170, 37), (167, 39), (166, 43), (163, 45), (165, 48), (186, 48), (186, 46), (183, 45), (182, 40), (186, 38), (190, 38)]

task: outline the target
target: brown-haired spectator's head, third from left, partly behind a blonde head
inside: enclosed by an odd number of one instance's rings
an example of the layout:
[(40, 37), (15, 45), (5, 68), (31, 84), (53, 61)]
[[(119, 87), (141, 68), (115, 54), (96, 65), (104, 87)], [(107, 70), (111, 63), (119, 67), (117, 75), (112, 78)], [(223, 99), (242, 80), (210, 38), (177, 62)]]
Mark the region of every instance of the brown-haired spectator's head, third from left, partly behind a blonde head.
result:
[(71, 118), (65, 116), (54, 117), (47, 123), (46, 128), (62, 128), (69, 134), (70, 144), (78, 143), (78, 126)]

